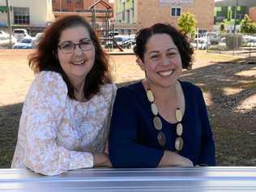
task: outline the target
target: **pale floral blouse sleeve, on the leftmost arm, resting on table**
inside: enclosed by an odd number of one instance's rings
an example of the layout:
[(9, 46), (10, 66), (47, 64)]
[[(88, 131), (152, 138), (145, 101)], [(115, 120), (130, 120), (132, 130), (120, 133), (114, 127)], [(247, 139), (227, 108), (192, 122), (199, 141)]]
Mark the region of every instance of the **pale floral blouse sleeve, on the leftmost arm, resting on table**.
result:
[[(58, 145), (58, 125), (66, 96), (66, 83), (60, 75), (41, 72), (26, 97), (17, 145), (23, 145), (23, 164), (36, 173), (56, 175), (93, 166), (90, 152), (72, 151)], [(15, 162), (12, 167), (17, 167)]]

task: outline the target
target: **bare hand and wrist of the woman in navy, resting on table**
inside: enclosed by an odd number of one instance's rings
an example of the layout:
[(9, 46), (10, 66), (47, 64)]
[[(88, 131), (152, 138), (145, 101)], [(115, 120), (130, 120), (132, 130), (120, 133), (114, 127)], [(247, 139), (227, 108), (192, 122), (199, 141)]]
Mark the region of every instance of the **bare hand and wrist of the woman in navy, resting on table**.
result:
[(181, 156), (173, 151), (164, 151), (164, 156), (160, 160), (158, 167), (166, 166), (181, 166), (181, 167), (193, 167), (193, 162), (188, 158)]

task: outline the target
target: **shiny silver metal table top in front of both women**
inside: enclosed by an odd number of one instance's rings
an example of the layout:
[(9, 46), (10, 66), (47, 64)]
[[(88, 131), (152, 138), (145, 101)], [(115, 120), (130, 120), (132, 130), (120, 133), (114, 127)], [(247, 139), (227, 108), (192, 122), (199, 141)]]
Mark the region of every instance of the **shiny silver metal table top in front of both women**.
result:
[(256, 191), (256, 167), (79, 169), (58, 176), (0, 169), (0, 191)]

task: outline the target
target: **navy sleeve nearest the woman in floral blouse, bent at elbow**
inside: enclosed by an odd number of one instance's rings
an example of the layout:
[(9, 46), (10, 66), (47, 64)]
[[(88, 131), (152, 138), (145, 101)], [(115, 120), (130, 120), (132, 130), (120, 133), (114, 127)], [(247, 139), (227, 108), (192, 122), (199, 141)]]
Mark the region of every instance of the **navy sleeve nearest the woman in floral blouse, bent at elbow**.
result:
[(117, 90), (109, 132), (109, 158), (114, 168), (155, 168), (164, 150), (139, 143), (139, 112), (132, 92)]

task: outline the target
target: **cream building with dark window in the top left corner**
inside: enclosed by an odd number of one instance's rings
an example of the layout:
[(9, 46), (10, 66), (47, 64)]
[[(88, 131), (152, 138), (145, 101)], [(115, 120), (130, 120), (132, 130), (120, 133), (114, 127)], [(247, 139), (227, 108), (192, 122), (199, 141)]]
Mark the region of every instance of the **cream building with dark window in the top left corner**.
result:
[[(9, 0), (14, 26), (45, 27), (54, 19), (52, 0)], [(6, 0), (0, 0), (0, 23), (7, 25)]]

